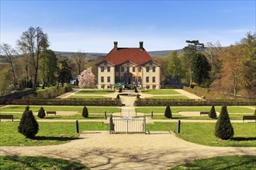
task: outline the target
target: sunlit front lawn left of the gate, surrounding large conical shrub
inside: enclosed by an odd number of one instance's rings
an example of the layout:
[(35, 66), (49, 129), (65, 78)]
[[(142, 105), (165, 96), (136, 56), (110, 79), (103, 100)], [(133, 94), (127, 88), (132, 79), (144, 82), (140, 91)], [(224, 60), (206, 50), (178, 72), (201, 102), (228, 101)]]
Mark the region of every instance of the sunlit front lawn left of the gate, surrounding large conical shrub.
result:
[[(25, 138), (18, 132), (19, 122), (0, 122), (0, 146), (58, 145), (78, 139), (74, 122), (39, 122), (36, 138)], [(80, 131), (108, 131), (109, 124), (79, 122)]]

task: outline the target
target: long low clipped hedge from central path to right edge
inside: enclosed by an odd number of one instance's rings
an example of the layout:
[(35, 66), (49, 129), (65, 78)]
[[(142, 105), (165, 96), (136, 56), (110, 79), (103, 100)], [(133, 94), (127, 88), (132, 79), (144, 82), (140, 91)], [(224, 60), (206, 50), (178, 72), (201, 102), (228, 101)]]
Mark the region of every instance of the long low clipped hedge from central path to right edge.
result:
[(139, 99), (134, 106), (246, 106), (255, 105), (256, 100), (169, 100), (169, 99)]

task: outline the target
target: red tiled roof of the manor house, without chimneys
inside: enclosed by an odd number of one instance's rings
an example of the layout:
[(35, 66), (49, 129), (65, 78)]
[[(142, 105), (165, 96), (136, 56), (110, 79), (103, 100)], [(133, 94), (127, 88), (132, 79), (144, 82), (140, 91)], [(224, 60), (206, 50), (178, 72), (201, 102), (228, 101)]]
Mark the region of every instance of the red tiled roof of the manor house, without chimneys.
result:
[(130, 61), (137, 65), (141, 65), (148, 61), (154, 61), (157, 63), (145, 49), (140, 48), (113, 48), (108, 55), (102, 59), (100, 63), (103, 61), (107, 61), (113, 63), (115, 65), (119, 65), (120, 63), (124, 63), (126, 61)]

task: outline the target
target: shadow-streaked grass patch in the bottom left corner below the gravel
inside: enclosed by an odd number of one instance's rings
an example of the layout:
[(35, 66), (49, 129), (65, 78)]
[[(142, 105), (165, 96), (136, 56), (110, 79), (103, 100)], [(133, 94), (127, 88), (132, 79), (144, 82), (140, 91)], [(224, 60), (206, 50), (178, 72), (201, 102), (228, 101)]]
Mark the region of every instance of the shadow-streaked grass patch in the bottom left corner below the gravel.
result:
[(88, 169), (78, 162), (46, 157), (0, 156), (0, 169)]

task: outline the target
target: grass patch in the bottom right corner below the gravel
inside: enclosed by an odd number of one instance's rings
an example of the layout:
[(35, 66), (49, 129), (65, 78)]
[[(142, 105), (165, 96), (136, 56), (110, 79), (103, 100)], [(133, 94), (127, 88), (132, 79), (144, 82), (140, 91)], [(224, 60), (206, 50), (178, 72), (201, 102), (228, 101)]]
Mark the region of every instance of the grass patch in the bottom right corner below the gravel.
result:
[(200, 159), (183, 165), (175, 166), (171, 170), (182, 169), (256, 169), (256, 156), (221, 156)]

